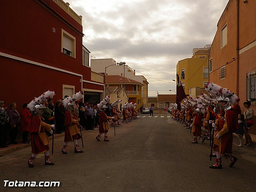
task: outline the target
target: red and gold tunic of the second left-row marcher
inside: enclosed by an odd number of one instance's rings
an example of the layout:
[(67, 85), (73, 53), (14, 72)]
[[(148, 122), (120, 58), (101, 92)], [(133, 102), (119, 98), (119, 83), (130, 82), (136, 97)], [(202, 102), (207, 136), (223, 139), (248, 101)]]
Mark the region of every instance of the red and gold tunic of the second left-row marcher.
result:
[(71, 114), (68, 110), (65, 112), (65, 121), (64, 121), (64, 126), (65, 126), (65, 136), (64, 136), (64, 142), (71, 142), (74, 139), (80, 139), (80, 133), (78, 126), (78, 120), (76, 119), (75, 114)]

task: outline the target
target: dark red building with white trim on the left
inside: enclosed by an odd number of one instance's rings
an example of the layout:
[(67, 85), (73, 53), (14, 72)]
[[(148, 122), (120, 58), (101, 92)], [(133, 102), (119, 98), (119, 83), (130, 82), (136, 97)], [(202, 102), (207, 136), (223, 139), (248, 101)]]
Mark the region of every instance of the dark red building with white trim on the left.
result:
[(85, 92), (101, 101), (104, 76), (88, 67), (82, 46), (82, 16), (62, 0), (4, 1), (1, 4), (0, 99), (19, 109), (42, 92), (54, 89), (54, 100)]

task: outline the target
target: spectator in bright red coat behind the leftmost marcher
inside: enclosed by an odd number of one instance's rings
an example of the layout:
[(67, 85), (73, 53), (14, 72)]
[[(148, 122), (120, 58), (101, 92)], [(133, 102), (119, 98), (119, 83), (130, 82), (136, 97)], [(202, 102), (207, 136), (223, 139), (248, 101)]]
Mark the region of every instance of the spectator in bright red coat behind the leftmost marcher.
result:
[(22, 131), (22, 143), (30, 143), (28, 141), (28, 132), (30, 129), (31, 113), (29, 112), (28, 104), (24, 103), (20, 116), (20, 130)]

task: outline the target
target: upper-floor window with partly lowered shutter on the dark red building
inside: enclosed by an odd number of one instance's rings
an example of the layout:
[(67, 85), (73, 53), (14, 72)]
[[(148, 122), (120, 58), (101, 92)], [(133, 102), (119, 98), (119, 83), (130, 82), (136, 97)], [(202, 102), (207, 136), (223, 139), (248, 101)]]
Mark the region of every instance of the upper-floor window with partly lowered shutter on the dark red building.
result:
[(76, 58), (76, 38), (62, 29), (61, 52)]

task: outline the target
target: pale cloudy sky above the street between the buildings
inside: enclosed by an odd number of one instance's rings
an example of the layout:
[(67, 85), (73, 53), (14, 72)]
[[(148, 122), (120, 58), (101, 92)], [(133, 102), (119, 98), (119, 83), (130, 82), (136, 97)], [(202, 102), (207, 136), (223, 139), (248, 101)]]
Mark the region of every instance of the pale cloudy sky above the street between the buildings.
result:
[(175, 94), (168, 90), (176, 89), (172, 81), (176, 79), (176, 64), (191, 58), (193, 48), (212, 44), (228, 0), (72, 0), (69, 3), (83, 17), (83, 45), (90, 50), (90, 56), (126, 62), (137, 71), (136, 75), (144, 74), (150, 83), (149, 96), (156, 96), (153, 90)]

